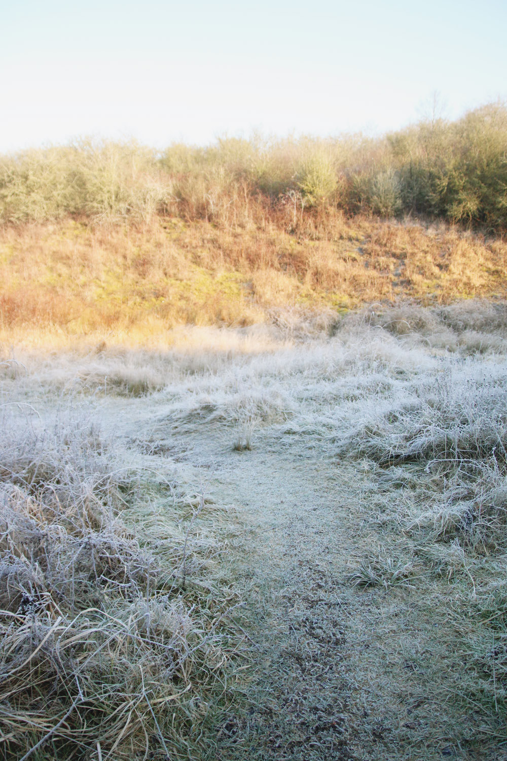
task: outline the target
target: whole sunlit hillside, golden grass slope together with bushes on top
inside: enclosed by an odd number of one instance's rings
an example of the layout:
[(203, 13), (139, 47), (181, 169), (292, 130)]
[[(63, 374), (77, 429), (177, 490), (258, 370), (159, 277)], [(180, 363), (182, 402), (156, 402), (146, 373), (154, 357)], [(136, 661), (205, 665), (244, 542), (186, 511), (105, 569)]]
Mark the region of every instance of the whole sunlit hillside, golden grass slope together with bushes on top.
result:
[(0, 158), (0, 330), (147, 338), (280, 307), (505, 296), (507, 116), (367, 139), (82, 139)]

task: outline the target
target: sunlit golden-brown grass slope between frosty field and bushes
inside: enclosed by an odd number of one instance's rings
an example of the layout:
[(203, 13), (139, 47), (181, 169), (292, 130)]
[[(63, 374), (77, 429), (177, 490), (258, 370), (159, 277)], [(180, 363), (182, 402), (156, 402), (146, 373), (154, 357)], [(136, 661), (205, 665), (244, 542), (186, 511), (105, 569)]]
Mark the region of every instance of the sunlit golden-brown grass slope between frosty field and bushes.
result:
[[(179, 324), (249, 325), (280, 307), (505, 296), (507, 244), (445, 224), (280, 207), (252, 224), (154, 218), (0, 231), (0, 331), (155, 336)], [(257, 218), (256, 223), (253, 220)], [(287, 224), (290, 221), (290, 224)], [(14, 333), (13, 333), (14, 331)]]

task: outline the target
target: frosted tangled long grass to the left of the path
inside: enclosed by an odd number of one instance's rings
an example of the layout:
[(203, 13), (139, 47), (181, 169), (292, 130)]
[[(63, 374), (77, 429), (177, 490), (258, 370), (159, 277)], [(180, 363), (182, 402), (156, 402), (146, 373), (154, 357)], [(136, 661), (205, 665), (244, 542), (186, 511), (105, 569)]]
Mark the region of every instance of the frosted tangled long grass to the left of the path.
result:
[(0, 408), (2, 757), (209, 757), (234, 659), (223, 515), (60, 403)]

